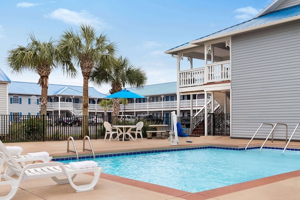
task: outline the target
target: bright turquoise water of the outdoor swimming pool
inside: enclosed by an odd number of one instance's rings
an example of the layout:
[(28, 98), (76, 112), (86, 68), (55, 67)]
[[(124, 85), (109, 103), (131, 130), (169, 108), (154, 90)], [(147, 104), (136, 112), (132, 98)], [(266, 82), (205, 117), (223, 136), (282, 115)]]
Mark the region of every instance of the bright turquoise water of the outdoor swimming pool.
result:
[(199, 192), (299, 170), (300, 151), (282, 154), (277, 149), (204, 148), (100, 157), (95, 161), (103, 166), (104, 173)]

